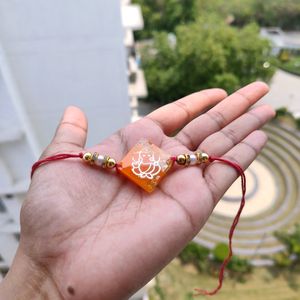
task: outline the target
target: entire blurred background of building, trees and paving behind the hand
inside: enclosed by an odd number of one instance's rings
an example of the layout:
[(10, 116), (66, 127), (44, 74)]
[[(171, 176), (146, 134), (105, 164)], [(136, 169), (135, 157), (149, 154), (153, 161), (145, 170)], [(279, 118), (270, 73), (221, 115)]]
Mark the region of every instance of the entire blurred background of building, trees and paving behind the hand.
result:
[[(0, 280), (19, 239), (32, 163), (64, 108), (89, 119), (88, 145), (189, 93), (264, 80), (277, 111), (247, 171), (235, 256), (215, 299), (300, 299), (299, 0), (1, 0)], [(239, 182), (204, 229), (134, 299), (193, 299), (228, 252)]]

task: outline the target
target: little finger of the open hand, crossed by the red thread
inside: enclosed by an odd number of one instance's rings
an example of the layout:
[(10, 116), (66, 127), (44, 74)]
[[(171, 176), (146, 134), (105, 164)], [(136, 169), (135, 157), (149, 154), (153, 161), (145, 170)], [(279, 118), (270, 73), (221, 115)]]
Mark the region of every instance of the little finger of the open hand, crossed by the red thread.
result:
[[(254, 131), (241, 143), (228, 151), (224, 158), (237, 162), (245, 170), (260, 153), (267, 142), (267, 136), (262, 131)], [(204, 178), (211, 191), (214, 205), (238, 177), (238, 173), (223, 163), (212, 163), (204, 171)]]

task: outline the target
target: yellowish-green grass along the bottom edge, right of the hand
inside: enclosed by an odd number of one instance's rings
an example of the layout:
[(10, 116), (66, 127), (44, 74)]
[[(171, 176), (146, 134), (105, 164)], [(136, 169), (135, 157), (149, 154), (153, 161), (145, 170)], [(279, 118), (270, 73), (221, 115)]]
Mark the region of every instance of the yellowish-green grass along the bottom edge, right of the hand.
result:
[[(192, 297), (194, 288), (213, 289), (217, 277), (201, 274), (191, 264), (182, 265), (173, 260), (159, 275), (159, 289), (149, 291), (150, 300), (207, 299)], [(223, 289), (213, 297), (216, 300), (298, 300), (300, 295), (300, 272), (275, 268), (254, 268), (244, 283), (225, 278)]]

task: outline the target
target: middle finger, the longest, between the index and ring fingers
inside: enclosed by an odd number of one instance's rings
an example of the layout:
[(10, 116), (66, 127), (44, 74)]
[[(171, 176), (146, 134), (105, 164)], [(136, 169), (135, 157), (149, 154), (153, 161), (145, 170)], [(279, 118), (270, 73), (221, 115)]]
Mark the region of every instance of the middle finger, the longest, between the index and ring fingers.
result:
[(187, 124), (176, 139), (190, 150), (196, 150), (206, 137), (238, 118), (268, 91), (268, 86), (263, 82), (254, 82), (241, 88)]

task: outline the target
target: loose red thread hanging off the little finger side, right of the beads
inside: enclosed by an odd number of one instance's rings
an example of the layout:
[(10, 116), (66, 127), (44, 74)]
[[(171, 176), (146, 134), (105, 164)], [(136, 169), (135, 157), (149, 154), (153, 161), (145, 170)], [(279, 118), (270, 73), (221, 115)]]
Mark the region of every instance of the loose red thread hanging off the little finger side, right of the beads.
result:
[(195, 289), (195, 291), (197, 292), (197, 294), (195, 294), (194, 296), (199, 296), (199, 295), (207, 295), (207, 296), (212, 296), (212, 295), (215, 295), (221, 288), (222, 288), (222, 284), (223, 284), (223, 279), (224, 279), (224, 271), (225, 271), (225, 268), (227, 266), (227, 264), (229, 263), (231, 257), (232, 257), (232, 237), (233, 237), (233, 234), (234, 234), (234, 230), (239, 222), (239, 219), (240, 219), (240, 216), (241, 216), (241, 213), (243, 211), (243, 208), (245, 206), (245, 196), (246, 196), (246, 176), (245, 176), (245, 173), (242, 169), (242, 167), (235, 163), (235, 162), (232, 162), (230, 160), (227, 160), (227, 159), (224, 159), (224, 158), (219, 158), (219, 157), (210, 157), (209, 158), (209, 161), (210, 162), (214, 162), (214, 161), (220, 161), (222, 163), (225, 163), (231, 167), (233, 167), (238, 173), (239, 175), (241, 176), (241, 186), (242, 186), (242, 198), (241, 198), (241, 204), (240, 204), (240, 207), (239, 207), (239, 210), (232, 222), (232, 225), (230, 227), (230, 231), (229, 231), (229, 253), (228, 253), (228, 256), (224, 259), (221, 267), (220, 267), (220, 272), (219, 272), (219, 284), (218, 286), (212, 290), (212, 291), (206, 291), (206, 290), (202, 290), (202, 289)]

